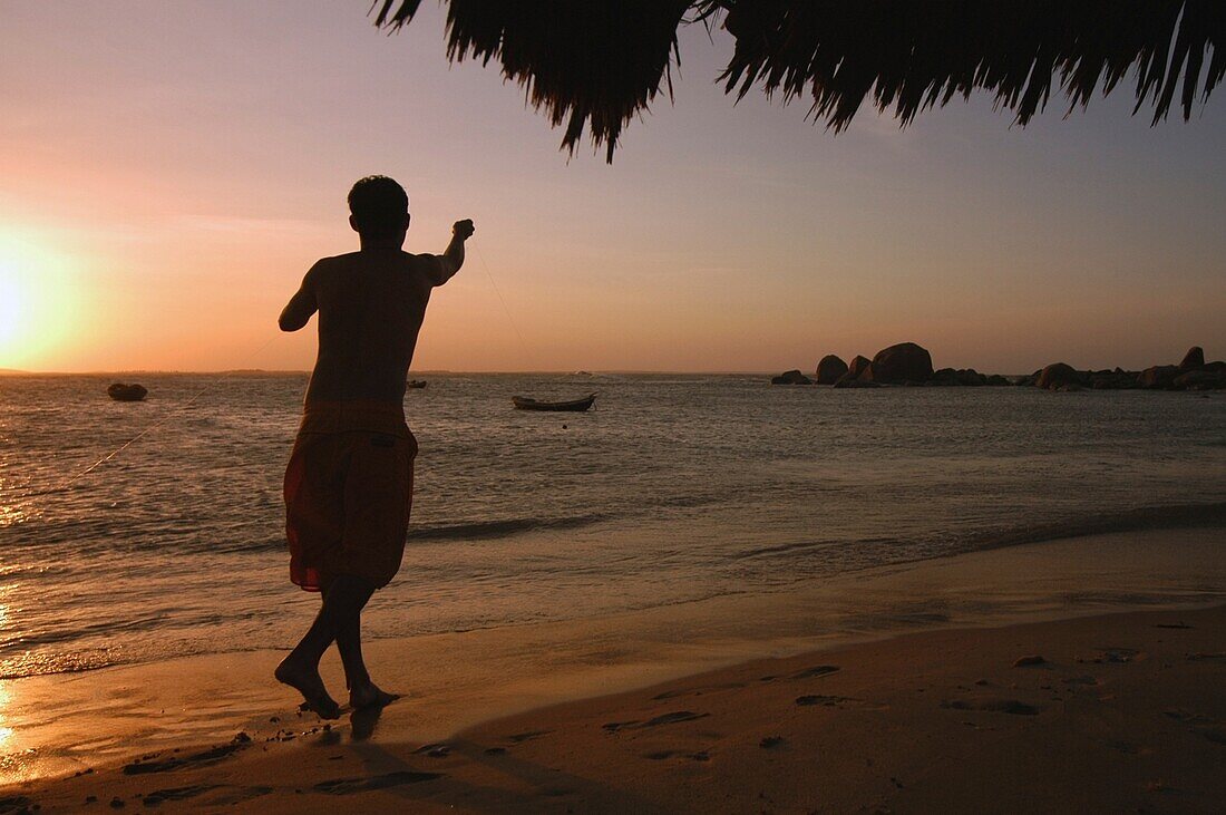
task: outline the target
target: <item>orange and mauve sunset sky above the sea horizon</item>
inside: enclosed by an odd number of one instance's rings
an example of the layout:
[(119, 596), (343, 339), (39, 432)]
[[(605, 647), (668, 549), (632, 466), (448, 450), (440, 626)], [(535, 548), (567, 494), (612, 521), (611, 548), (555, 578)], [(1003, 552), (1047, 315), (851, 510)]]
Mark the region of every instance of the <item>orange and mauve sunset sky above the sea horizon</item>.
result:
[(1144, 368), (1226, 357), (1226, 89), (1192, 121), (1130, 87), (1025, 129), (989, 98), (841, 135), (716, 83), (731, 38), (680, 39), (676, 97), (612, 165), (497, 69), (449, 65), (443, 11), (368, 0), (0, 0), (0, 368), (309, 369), (276, 317), (352, 251), (345, 196), (408, 190), (408, 251), (477, 233), (416, 370), (812, 370), (927, 347), (938, 368)]

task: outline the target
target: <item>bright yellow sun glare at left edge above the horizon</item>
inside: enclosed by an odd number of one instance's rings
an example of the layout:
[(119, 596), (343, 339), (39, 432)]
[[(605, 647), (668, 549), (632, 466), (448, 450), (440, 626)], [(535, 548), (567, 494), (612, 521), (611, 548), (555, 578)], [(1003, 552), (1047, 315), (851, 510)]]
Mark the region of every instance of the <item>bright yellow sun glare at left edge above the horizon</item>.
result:
[(71, 339), (78, 293), (70, 260), (0, 233), (0, 368), (47, 365)]

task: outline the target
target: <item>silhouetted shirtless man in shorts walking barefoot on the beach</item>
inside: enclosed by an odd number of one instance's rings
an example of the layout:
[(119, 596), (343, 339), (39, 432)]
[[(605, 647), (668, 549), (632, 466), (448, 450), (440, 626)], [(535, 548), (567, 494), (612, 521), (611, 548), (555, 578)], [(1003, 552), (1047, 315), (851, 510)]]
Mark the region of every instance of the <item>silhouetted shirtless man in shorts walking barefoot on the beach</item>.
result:
[(417, 455), (405, 423), (405, 375), (430, 289), (460, 271), (473, 233), (472, 221), (457, 221), (443, 255), (403, 251), (408, 196), (381, 175), (353, 185), (349, 212), (360, 250), (311, 266), (280, 320), (282, 331), (298, 331), (319, 311), (319, 355), (284, 494), (289, 578), (322, 592), (324, 604), (276, 677), (324, 718), (340, 715), (319, 675), (333, 641), (353, 707), (395, 699), (367, 672), (360, 615), (405, 554)]

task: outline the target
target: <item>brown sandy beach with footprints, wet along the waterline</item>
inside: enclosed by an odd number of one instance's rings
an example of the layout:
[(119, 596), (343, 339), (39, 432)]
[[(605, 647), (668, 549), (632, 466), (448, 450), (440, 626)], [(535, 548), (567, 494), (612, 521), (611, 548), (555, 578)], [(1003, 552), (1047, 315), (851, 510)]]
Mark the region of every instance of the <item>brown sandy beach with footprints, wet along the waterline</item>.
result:
[(270, 681), (277, 652), (7, 681), (0, 811), (1213, 811), (1226, 608), (1192, 607), (1226, 596), (1221, 543), (1098, 536), (376, 642), (408, 695), (326, 728)]

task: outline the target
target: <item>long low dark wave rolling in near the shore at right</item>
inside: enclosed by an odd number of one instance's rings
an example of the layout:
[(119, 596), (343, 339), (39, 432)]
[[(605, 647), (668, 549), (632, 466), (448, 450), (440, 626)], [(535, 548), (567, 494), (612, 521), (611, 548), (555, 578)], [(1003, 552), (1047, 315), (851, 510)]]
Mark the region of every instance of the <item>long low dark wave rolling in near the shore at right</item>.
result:
[[(984, 552), (1005, 547), (1019, 547), (1029, 543), (1084, 538), (1091, 534), (1112, 532), (1138, 532), (1143, 529), (1186, 529), (1194, 527), (1226, 526), (1226, 502), (1224, 504), (1172, 504), (1166, 506), (1143, 506), (1111, 514), (1083, 515), (1063, 521), (1027, 523), (1007, 529), (989, 529), (971, 533), (958, 542), (954, 552), (945, 550), (942, 555), (964, 552)], [(948, 538), (945, 538), (948, 540)], [(907, 538), (873, 538), (858, 540), (859, 544), (920, 543)], [(737, 560), (769, 558), (797, 554), (830, 545), (842, 545), (837, 540), (801, 540), (769, 547), (759, 547), (733, 555)]]

